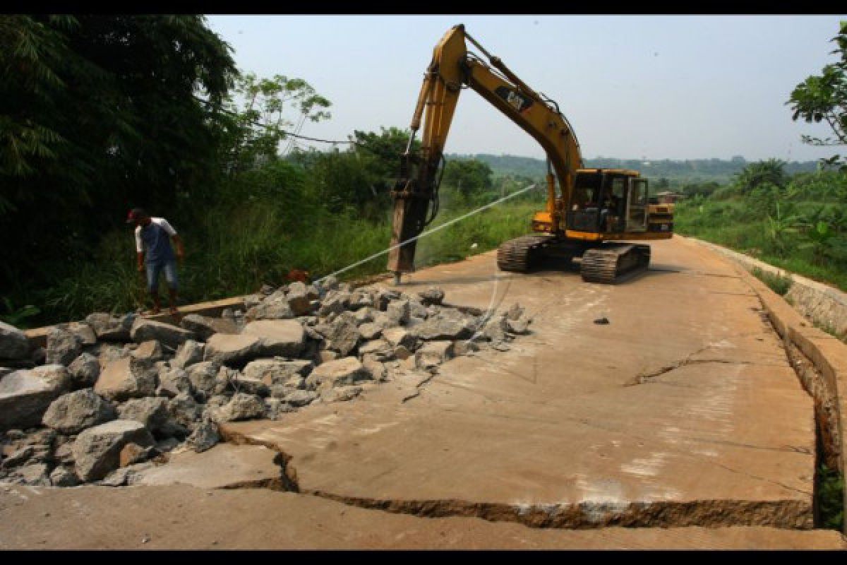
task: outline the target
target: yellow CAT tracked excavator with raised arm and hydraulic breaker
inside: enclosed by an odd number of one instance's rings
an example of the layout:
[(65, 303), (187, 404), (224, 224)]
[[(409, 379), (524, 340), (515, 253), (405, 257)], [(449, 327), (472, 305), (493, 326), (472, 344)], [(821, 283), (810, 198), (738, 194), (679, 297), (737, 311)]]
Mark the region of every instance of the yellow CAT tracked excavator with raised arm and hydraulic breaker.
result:
[[(468, 51), (465, 40), (483, 53)], [(417, 237), (438, 213), (444, 147), (459, 93), (469, 87), (519, 125), (547, 154), (547, 205), (532, 219), (534, 235), (506, 241), (497, 266), (526, 273), (546, 257), (581, 258), (583, 280), (613, 283), (647, 269), (650, 246), (625, 241), (669, 239), (673, 208), (651, 204), (647, 180), (629, 169), (585, 169), (573, 128), (556, 102), (529, 88), (456, 25), (435, 46), (412, 117), (412, 134), (391, 191), (394, 216), (388, 269), (414, 270)], [(425, 115), (424, 115), (425, 114)], [(412, 142), (424, 130), (417, 151)], [(559, 194), (556, 194), (556, 180)]]

